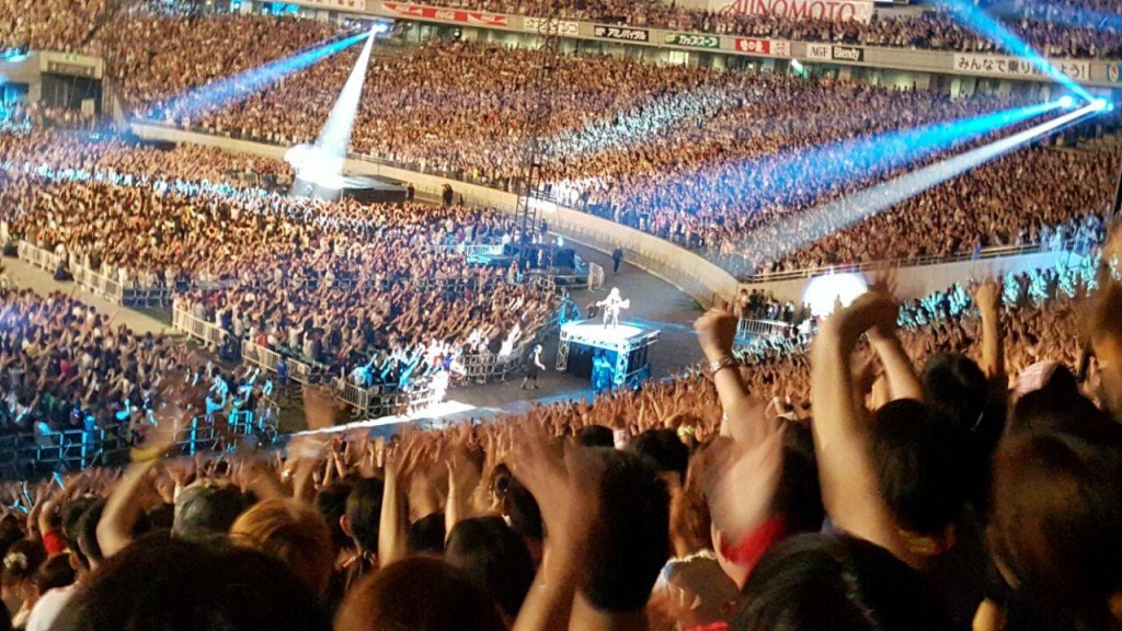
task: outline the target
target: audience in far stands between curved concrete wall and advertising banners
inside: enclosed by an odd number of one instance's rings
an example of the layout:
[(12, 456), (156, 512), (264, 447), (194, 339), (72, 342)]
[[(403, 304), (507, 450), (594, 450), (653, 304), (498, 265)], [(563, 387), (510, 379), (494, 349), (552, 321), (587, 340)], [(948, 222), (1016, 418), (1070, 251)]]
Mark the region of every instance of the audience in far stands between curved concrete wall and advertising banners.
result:
[[(1116, 150), (1036, 146), (873, 218), (854, 223), (848, 212), (824, 220), (809, 211), (890, 180), (905, 165), (916, 168), (904, 156), (914, 154), (919, 164), (945, 157), (950, 147), (922, 147), (923, 130), (1026, 101), (951, 100), (926, 90), (588, 55), (565, 57), (554, 86), (508, 84), (508, 75), (533, 75), (541, 62), (535, 51), (439, 40), (378, 58), (352, 147), (410, 168), (512, 189), (534, 129), (530, 122), (541, 117), (535, 103), (550, 93), (551, 111), (539, 130), (550, 156), (543, 192), (697, 249), (742, 276), (1048, 245), (1056, 235), (1093, 232), (1113, 191)], [(341, 54), (194, 118), (174, 101), (144, 111), (210, 134), (307, 143), (352, 63), (352, 54)], [(470, 88), (460, 73), (472, 77)], [(294, 107), (294, 91), (315, 97)], [(442, 122), (433, 127), (432, 120)], [(890, 145), (898, 149), (885, 149)], [(791, 234), (802, 239), (783, 238)]]

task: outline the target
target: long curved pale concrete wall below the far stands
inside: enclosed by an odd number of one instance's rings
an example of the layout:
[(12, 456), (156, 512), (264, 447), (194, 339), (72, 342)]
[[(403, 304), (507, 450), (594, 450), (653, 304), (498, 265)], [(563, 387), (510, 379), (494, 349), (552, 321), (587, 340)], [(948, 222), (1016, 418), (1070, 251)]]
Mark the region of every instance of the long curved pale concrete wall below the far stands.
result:
[[(151, 140), (220, 147), (230, 152), (275, 159), (283, 159), (286, 150), (285, 147), (275, 145), (184, 131), (158, 125), (134, 124), (132, 130), (137, 136)], [(487, 205), (507, 212), (514, 212), (518, 203), (518, 196), (514, 193), (374, 162), (348, 159), (346, 168), (350, 173), (380, 175), (392, 180), (412, 182), (419, 192), (435, 196), (440, 195), (444, 184), (449, 184), (458, 194), (462, 194), (468, 203)], [(715, 302), (732, 300), (736, 294), (737, 282), (732, 274), (684, 248), (586, 212), (544, 201), (537, 201), (535, 204), (551, 230), (564, 235), (567, 239), (604, 253), (610, 253), (616, 247), (623, 248), (626, 252), (625, 259), (628, 263), (677, 286), (702, 307), (711, 307)]]

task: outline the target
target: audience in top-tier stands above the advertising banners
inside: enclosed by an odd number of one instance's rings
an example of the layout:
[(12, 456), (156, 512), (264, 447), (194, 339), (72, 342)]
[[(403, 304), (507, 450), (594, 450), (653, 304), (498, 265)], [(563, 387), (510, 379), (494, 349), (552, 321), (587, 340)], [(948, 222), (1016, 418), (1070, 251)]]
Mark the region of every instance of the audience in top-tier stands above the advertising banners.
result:
[[(882, 9), (867, 21), (800, 19), (778, 15), (748, 13), (738, 10), (739, 2), (729, 1), (728, 9), (709, 11), (664, 3), (656, 0), (626, 2), (620, 0), (567, 0), (545, 2), (542, 0), (444, 0), (434, 4), (470, 8), (486, 11), (527, 16), (557, 16), (561, 19), (595, 20), (608, 24), (626, 24), (637, 27), (668, 28), (682, 31), (712, 33), (794, 39), (803, 42), (830, 42), (838, 44), (886, 46), (910, 49), (936, 49), (992, 53), (1000, 52), (992, 42), (963, 26), (948, 10), (932, 4), (919, 10)], [(1028, 44), (1052, 57), (1107, 57), (1122, 54), (1122, 33), (1116, 21), (1122, 9), (1114, 2), (984, 2), (997, 18), (1005, 21), (1010, 30)], [(186, 70), (169, 54), (171, 49), (160, 43), (160, 37), (174, 35), (188, 38), (193, 44), (205, 45), (214, 34), (236, 35), (230, 47), (214, 51), (209, 67), (193, 67), (192, 73), (214, 73), (223, 61), (240, 61), (241, 53), (252, 51), (241, 44), (252, 43), (255, 18), (252, 16), (223, 16), (214, 18), (200, 10), (196, 2), (126, 2), (104, 0), (80, 6), (50, 2), (8, 0), (0, 7), (11, 19), (0, 20), (0, 44), (6, 46), (29, 46), (33, 49), (63, 52), (109, 52), (122, 55), (122, 67), (136, 70), (139, 62), (156, 61), (154, 74), (169, 80), (178, 80), (183, 74), (172, 71)], [(121, 17), (128, 17), (129, 27), (114, 31)], [(234, 20), (237, 28), (222, 20)], [(260, 24), (260, 22), (257, 22)], [(314, 40), (315, 30), (295, 27), (275, 39), (276, 43), (305, 43)], [(240, 29), (240, 30), (239, 30)], [(256, 35), (260, 35), (258, 31)], [(131, 46), (141, 42), (144, 46)], [(142, 38), (142, 39), (138, 39)], [(264, 47), (261, 47), (264, 49)], [(267, 60), (263, 60), (267, 61)], [(246, 66), (249, 67), (249, 66)], [(245, 70), (241, 67), (239, 70)], [(156, 88), (156, 83), (148, 83)]]

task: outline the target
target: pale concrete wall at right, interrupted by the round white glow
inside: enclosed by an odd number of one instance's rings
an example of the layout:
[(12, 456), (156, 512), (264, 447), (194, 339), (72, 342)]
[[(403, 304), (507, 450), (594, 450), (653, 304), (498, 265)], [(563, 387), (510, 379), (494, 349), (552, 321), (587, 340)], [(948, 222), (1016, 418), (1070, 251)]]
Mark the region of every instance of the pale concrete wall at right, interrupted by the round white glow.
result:
[[(991, 276), (1017, 274), (1029, 269), (1047, 269), (1059, 265), (1077, 264), (1083, 257), (1067, 252), (1048, 252), (990, 258), (985, 260), (963, 260), (940, 265), (900, 267), (895, 272), (896, 295), (901, 299), (923, 298), (942, 291), (955, 283), (982, 280)], [(811, 278), (775, 281), (771, 283), (746, 283), (742, 287), (772, 292), (780, 300), (799, 302)]]

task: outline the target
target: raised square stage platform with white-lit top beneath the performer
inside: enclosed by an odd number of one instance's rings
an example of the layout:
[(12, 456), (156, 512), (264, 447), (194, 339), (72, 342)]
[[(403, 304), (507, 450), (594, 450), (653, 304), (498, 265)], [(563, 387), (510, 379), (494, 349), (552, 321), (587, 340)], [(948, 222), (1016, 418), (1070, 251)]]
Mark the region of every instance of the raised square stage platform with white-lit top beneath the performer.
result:
[(601, 366), (611, 387), (635, 387), (651, 376), (647, 349), (659, 339), (657, 329), (620, 321), (618, 327), (605, 328), (603, 320), (581, 320), (561, 327), (558, 346), (558, 371), (588, 376), (601, 390), (597, 374), (596, 356), (605, 358)]

